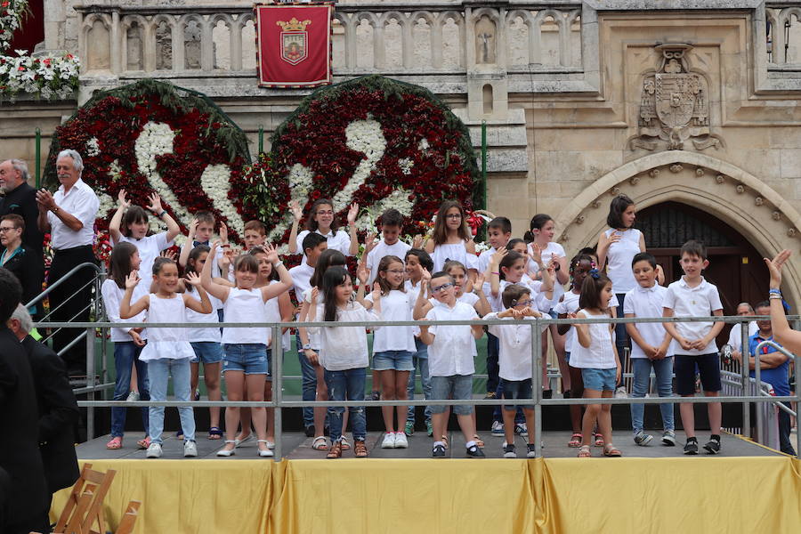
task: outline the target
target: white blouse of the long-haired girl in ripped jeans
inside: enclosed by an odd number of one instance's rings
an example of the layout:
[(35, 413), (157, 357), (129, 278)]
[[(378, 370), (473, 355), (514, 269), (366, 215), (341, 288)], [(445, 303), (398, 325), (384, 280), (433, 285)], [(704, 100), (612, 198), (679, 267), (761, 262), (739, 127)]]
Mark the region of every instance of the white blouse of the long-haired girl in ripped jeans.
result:
[[(325, 319), (325, 304), (317, 304), (315, 321)], [(360, 303), (348, 303), (345, 309), (336, 312), (336, 322), (332, 327), (309, 328), (320, 336), (320, 365), (328, 371), (368, 367), (368, 344), (366, 327), (345, 327), (344, 323), (354, 321), (381, 320), (376, 312), (365, 310)], [(374, 328), (380, 331), (379, 328)]]

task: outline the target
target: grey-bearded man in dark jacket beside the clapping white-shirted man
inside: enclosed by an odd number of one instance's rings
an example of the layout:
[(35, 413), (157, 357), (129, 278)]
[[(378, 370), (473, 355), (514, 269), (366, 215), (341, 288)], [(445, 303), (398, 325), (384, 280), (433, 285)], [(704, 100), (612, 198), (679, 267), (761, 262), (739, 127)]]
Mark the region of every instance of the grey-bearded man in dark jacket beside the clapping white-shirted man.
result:
[(21, 159), (6, 159), (0, 163), (0, 217), (17, 214), (25, 221), (22, 242), (38, 255), (42, 255), (44, 234), (36, 226), (38, 209), (36, 189), (28, 184), (28, 166)]

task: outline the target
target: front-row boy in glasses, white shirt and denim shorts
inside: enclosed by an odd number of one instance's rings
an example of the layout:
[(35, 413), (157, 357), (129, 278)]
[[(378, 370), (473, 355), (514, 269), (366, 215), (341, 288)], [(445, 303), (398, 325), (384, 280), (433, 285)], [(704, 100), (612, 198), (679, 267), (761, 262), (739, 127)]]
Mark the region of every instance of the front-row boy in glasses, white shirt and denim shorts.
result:
[[(425, 315), (425, 320), (476, 320), (478, 313), (473, 306), (460, 303), (456, 298), (454, 279), (447, 272), (433, 274), (430, 283), (433, 298), (442, 305), (433, 306)], [(421, 290), (417, 295), (417, 305), (425, 303), (427, 295)], [(469, 400), (473, 396), (473, 349), (475, 339), (483, 336), (481, 325), (448, 325), (420, 326), (420, 339), (428, 346), (428, 371), (431, 375), (431, 398), (444, 401), (446, 399)], [(445, 435), (448, 419), (445, 406), (432, 407), (433, 450), (435, 458), (445, 457)], [(484, 457), (473, 440), (473, 407), (457, 405), (453, 407), (457, 415), (459, 428), (465, 436), (466, 454), (468, 457)]]

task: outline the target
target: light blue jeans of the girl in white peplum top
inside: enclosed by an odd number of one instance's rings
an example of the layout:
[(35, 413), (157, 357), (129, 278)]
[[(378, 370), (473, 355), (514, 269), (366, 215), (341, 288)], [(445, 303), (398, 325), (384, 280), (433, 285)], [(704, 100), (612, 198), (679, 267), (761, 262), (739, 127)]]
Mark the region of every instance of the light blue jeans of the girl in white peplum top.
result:
[[(166, 401), (167, 382), (173, 376), (173, 390), (176, 401), (191, 401), (190, 393), (190, 359), (172, 360), (159, 358), (148, 361), (150, 376), (150, 399)], [(195, 441), (195, 417), (191, 406), (178, 409), (181, 416), (183, 441)], [(164, 431), (164, 407), (150, 407), (150, 442), (162, 443), (161, 433)]]

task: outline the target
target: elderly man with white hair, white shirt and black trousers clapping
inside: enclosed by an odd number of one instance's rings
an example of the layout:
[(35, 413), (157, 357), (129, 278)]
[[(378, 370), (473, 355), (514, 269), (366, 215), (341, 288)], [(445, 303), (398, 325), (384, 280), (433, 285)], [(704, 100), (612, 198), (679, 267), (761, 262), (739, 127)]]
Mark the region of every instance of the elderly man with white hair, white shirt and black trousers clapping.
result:
[[(47, 277), (51, 286), (78, 265), (95, 263), (92, 247), (94, 217), (100, 200), (81, 180), (83, 170), (84, 160), (76, 150), (61, 150), (56, 158), (56, 174), (61, 186), (54, 195), (44, 189), (36, 192), (39, 207), (36, 223), (40, 231), (50, 233), (53, 247), (53, 263)], [(81, 269), (53, 289), (50, 293), (51, 320), (89, 320), (89, 287), (93, 275), (93, 269)], [(75, 328), (62, 328), (53, 335), (53, 349), (61, 352), (78, 333)], [(67, 364), (69, 376), (85, 376), (85, 353), (84, 344), (78, 343), (60, 354)]]

